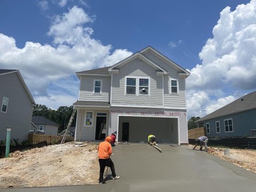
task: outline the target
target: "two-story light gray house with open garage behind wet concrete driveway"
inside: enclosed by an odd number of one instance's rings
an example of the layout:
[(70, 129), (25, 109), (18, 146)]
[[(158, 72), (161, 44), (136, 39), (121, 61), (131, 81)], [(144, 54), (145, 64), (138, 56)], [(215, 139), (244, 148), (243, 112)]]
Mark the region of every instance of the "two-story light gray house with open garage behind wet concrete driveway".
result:
[(75, 140), (188, 143), (189, 72), (148, 46), (111, 67), (81, 71)]

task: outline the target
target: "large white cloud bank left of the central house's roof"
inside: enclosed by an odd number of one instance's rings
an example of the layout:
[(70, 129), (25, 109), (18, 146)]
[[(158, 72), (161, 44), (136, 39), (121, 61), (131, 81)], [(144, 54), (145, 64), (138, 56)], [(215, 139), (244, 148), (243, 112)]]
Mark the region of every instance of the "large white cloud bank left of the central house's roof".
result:
[[(85, 25), (94, 20), (77, 6), (58, 15), (48, 32), (55, 46), (26, 42), (20, 49), (13, 37), (0, 34), (0, 68), (19, 69), (36, 101), (41, 102), (53, 98), (47, 91), (52, 82), (70, 78), (76, 71), (114, 65), (132, 54), (125, 49), (111, 53), (111, 45), (92, 38), (93, 29)], [(73, 101), (69, 100), (70, 105)]]

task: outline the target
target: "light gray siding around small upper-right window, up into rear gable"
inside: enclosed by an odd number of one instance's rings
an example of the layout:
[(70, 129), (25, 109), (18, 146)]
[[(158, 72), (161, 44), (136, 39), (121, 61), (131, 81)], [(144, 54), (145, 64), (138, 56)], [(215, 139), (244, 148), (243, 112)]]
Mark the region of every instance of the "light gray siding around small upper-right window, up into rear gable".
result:
[[(185, 78), (179, 77), (178, 72), (183, 72), (181, 70), (175, 69), (167, 64), (162, 59), (156, 57), (150, 51), (143, 53), (147, 58), (157, 63), (157, 65), (163, 67), (167, 71), (169, 71), (168, 75), (164, 76), (164, 107), (171, 107), (171, 108), (186, 108), (186, 97), (185, 97)], [(171, 93), (170, 90), (170, 79), (176, 79), (179, 84), (179, 93)]]

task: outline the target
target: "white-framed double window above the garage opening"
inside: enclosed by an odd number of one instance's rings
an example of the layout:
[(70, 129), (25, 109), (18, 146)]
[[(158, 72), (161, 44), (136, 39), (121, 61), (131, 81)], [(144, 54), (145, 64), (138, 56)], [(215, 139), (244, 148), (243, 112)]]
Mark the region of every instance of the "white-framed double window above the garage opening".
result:
[(149, 95), (150, 78), (149, 77), (125, 77), (125, 94)]

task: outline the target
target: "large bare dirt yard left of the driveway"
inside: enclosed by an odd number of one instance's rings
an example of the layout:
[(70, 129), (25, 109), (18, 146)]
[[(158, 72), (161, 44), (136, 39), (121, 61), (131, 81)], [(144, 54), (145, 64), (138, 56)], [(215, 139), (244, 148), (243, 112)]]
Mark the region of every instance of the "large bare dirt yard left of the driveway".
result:
[(71, 142), (26, 151), (0, 159), (0, 188), (97, 184), (97, 146)]

